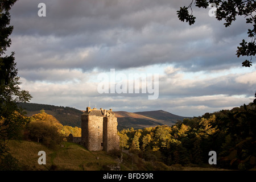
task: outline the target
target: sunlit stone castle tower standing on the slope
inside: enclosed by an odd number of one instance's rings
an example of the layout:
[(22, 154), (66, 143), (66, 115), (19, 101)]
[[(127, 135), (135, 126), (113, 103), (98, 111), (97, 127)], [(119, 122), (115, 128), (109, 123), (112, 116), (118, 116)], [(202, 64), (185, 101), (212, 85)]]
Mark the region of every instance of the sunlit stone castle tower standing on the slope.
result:
[(119, 150), (117, 118), (112, 109), (87, 107), (82, 114), (81, 130), (81, 144), (89, 151)]

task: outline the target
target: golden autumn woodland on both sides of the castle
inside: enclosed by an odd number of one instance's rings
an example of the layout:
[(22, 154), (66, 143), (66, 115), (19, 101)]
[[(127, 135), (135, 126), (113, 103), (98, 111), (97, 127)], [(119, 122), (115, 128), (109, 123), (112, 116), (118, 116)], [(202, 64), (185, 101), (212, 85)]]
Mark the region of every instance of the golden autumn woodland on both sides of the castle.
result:
[[(69, 134), (81, 137), (81, 128), (64, 126), (44, 110), (25, 119), (27, 122), (13, 131), (11, 139), (40, 142), (54, 149)], [(116, 152), (117, 157), (123, 151), (155, 165), (204, 167), (209, 166), (209, 151), (215, 151), (217, 164), (212, 167), (256, 168), (255, 103), (185, 118), (173, 126), (123, 129), (118, 135), (121, 150)]]

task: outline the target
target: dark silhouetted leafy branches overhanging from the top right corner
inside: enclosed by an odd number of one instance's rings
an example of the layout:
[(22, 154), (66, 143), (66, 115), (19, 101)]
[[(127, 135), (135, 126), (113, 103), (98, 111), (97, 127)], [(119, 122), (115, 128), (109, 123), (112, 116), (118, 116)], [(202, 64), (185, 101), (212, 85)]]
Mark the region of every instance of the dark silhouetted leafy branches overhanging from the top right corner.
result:
[[(243, 67), (251, 67), (251, 60), (256, 53), (256, 1), (254, 0), (192, 0), (188, 6), (180, 7), (177, 11), (178, 18), (181, 21), (186, 21), (189, 25), (195, 23), (196, 17), (193, 15), (192, 6), (195, 5), (199, 8), (206, 9), (210, 6), (215, 6), (216, 19), (225, 20), (225, 27), (228, 27), (237, 19), (237, 16), (244, 16), (246, 23), (251, 25), (251, 28), (247, 30), (249, 42), (245, 39), (240, 43), (240, 47), (237, 47), (237, 57), (249, 56), (250, 60), (245, 60), (242, 63)], [(189, 10), (191, 13), (189, 14)]]

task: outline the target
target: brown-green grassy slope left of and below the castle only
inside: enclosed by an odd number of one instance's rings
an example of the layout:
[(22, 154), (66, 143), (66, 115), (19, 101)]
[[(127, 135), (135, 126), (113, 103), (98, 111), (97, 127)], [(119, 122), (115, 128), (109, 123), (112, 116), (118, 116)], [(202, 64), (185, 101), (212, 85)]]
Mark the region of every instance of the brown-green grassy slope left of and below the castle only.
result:
[[(10, 153), (28, 170), (100, 170), (103, 166), (115, 165), (117, 161), (104, 151), (90, 152), (71, 142), (63, 142), (64, 147), (51, 150), (43, 144), (28, 141), (10, 140)], [(46, 165), (38, 164), (38, 152), (46, 152)]]

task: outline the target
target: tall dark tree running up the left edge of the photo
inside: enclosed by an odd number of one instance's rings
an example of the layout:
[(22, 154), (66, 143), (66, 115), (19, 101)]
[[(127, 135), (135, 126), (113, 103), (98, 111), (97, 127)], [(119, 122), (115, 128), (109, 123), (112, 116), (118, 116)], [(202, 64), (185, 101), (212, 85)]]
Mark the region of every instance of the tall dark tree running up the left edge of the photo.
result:
[(0, 155), (7, 151), (6, 143), (14, 131), (27, 122), (17, 104), (28, 102), (32, 98), (26, 90), (19, 88), (14, 52), (10, 56), (6, 55), (7, 48), (11, 46), (9, 36), (13, 32), (13, 26), (9, 26), (9, 10), (15, 2), (16, 0), (0, 1)]

